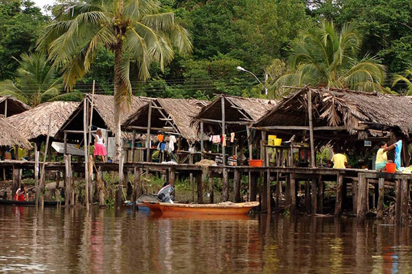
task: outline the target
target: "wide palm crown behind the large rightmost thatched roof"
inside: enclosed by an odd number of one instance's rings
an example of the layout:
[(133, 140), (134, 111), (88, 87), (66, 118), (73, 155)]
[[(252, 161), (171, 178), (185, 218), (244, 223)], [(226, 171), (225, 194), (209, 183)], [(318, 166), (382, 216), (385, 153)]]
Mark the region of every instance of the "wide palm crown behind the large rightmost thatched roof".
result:
[(323, 86), (361, 91), (384, 91), (385, 66), (365, 55), (357, 59), (361, 38), (350, 24), (337, 30), (332, 22), (323, 21), (306, 29), (291, 47), (288, 72), (271, 87), (288, 92), (284, 86)]

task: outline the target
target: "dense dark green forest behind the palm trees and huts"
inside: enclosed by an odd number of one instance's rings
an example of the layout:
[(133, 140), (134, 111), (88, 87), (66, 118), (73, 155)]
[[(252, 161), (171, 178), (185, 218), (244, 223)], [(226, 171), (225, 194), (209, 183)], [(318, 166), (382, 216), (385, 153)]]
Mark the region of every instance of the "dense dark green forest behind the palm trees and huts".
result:
[[(216, 93), (262, 97), (269, 85), (284, 73), (301, 30), (321, 21), (356, 27), (361, 39), (358, 59), (369, 56), (385, 66), (386, 90), (404, 94), (410, 90), (412, 67), (412, 1), (409, 0), (161, 0), (162, 12), (173, 11), (176, 21), (190, 32), (193, 50), (172, 60), (164, 71), (156, 62), (150, 78), (142, 81), (130, 69), (135, 95), (211, 99)], [(51, 9), (53, 11), (53, 8)], [(53, 14), (53, 12), (52, 12)], [(23, 53), (36, 49), (36, 40), (54, 15), (41, 14), (31, 1), (0, 1), (0, 81), (19, 80)], [(100, 47), (89, 72), (74, 90), (113, 94), (113, 52)], [(242, 66), (254, 73), (237, 71)], [(265, 82), (265, 75), (268, 81)], [(401, 77), (400, 77), (401, 76)], [(58, 79), (60, 75), (56, 75)], [(404, 77), (404, 78), (402, 78)], [(398, 79), (393, 85), (393, 79)], [(409, 81), (409, 82), (408, 82)], [(21, 86), (19, 86), (21, 85)], [(61, 90), (60, 92), (65, 92)]]

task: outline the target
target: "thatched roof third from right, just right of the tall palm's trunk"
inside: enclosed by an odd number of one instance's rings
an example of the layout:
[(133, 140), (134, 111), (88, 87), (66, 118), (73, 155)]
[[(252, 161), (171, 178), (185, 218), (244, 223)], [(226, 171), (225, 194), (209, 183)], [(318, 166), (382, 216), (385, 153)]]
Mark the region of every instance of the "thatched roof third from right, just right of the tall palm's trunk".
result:
[[(196, 116), (207, 101), (199, 101), (196, 99), (163, 99), (158, 98), (152, 101), (152, 115), (150, 119), (150, 127), (163, 129), (164, 132), (174, 132), (181, 134), (183, 138), (190, 141), (200, 140), (196, 126), (191, 125), (192, 119)], [(130, 115), (123, 126), (127, 127), (148, 127), (148, 112), (149, 104)], [(167, 121), (166, 119), (170, 119)], [(140, 129), (137, 132), (146, 133), (146, 129)], [(152, 131), (153, 132), (153, 131)]]

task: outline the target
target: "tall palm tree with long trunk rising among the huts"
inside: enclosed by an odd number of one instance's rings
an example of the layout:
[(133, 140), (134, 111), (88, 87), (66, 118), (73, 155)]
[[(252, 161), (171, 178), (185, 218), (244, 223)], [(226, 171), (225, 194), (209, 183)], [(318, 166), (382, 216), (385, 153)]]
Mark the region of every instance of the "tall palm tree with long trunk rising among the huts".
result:
[(157, 0), (102, 0), (64, 3), (56, 21), (38, 40), (49, 58), (62, 68), (65, 88), (87, 73), (103, 45), (114, 52), (114, 112), (116, 160), (120, 155), (119, 115), (130, 105), (130, 66), (137, 66), (139, 79), (146, 80), (153, 62), (165, 64), (174, 58), (173, 47), (190, 53), (192, 43), (186, 29), (176, 23), (173, 12), (159, 12)]

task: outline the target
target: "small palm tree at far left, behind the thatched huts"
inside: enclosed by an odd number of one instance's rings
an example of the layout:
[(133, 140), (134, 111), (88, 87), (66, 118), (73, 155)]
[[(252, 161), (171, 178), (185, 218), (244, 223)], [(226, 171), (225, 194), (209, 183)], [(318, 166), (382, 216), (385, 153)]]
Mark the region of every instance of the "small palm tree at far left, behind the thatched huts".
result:
[(23, 53), (21, 60), (17, 61), (20, 66), (16, 81), (0, 82), (0, 96), (11, 95), (34, 106), (61, 97), (62, 79), (56, 77), (56, 70), (47, 62), (45, 55)]

